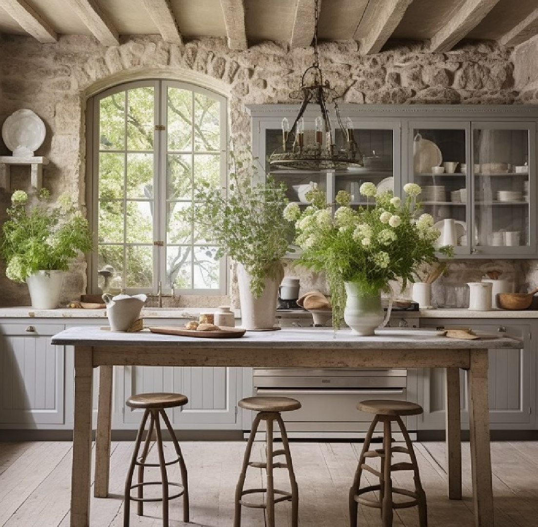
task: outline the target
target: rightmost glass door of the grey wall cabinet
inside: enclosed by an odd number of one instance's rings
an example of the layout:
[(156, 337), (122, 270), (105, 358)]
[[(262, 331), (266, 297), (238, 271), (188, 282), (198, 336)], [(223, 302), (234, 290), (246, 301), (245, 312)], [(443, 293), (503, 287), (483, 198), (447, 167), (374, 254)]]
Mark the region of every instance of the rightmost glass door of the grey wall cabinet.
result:
[(536, 220), (530, 200), (534, 143), (534, 124), (473, 124), (473, 219), (478, 254), (517, 254), (534, 245)]

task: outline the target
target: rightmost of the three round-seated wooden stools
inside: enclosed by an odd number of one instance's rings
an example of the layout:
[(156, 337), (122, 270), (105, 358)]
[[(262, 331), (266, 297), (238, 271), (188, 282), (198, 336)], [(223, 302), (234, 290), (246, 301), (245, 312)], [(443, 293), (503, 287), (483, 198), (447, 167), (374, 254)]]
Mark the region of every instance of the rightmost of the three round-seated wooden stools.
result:
[[(374, 413), (372, 424), (364, 439), (363, 451), (360, 453), (359, 464), (353, 485), (349, 490), (349, 516), (351, 527), (357, 527), (357, 503), (366, 505), (367, 507), (377, 507), (381, 509), (381, 519), (383, 527), (391, 527), (392, 525), (392, 509), (404, 509), (407, 507), (419, 508), (419, 525), (427, 527), (428, 517), (426, 509), (426, 494), (422, 489), (419, 475), (419, 465), (416, 462), (413, 445), (409, 439), (409, 434), (401, 420), (400, 416), (415, 416), (422, 413), (422, 407), (418, 404), (408, 403), (400, 400), (364, 400), (357, 404), (357, 409), (363, 412)], [(383, 423), (383, 448), (377, 450), (369, 450), (370, 441), (374, 429), (378, 422)], [(397, 421), (400, 426), (402, 435), (406, 442), (407, 448), (400, 446), (392, 446), (391, 423)], [(403, 452), (408, 454), (410, 462), (391, 463), (393, 452)], [(365, 458), (381, 458), (381, 470), (378, 472), (369, 465), (366, 465)], [(360, 475), (363, 470), (367, 470), (379, 477), (379, 485), (371, 485), (369, 487), (360, 488)], [(415, 480), (415, 490), (400, 489), (392, 486), (391, 473), (397, 470), (413, 470)], [(379, 501), (369, 500), (363, 497), (363, 494), (379, 490)], [(392, 494), (402, 494), (413, 498), (405, 502), (394, 503)]]

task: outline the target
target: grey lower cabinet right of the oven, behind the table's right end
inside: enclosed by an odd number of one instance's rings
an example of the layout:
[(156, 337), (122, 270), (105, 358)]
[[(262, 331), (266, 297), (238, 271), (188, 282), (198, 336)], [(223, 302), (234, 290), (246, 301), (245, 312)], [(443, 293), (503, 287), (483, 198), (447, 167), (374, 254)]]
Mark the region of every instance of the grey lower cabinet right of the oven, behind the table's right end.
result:
[[(505, 324), (506, 319), (422, 319), (421, 327), (471, 327), (487, 333), (522, 339), (523, 346), (515, 349), (494, 349), (489, 352), (489, 407), (492, 430), (530, 430), (535, 427), (533, 405), (535, 394), (536, 351), (532, 340), (533, 320), (528, 323)], [(460, 373), (462, 426), (468, 427), (466, 407), (466, 372)], [(424, 413), (419, 416), (419, 430), (444, 429), (444, 378), (438, 369), (422, 370), (418, 387), (419, 404)]]

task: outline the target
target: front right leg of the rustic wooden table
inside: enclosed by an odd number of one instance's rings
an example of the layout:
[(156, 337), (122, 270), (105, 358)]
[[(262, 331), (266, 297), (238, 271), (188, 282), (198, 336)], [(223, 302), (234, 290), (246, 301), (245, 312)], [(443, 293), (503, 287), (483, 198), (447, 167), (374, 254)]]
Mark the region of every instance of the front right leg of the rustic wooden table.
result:
[(490, 416), (487, 405), (487, 349), (471, 350), (469, 370), (469, 431), (472, 493), (476, 527), (492, 527)]

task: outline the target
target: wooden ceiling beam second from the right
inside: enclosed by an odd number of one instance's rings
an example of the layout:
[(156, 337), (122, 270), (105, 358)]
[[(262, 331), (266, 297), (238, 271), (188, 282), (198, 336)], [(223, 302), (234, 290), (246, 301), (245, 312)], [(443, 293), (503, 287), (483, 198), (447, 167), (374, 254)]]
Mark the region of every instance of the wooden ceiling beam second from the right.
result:
[(482, 22), (498, 2), (499, 0), (467, 0), (433, 36), (430, 51), (435, 53), (450, 51)]

